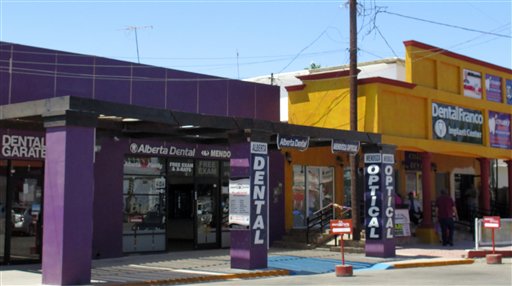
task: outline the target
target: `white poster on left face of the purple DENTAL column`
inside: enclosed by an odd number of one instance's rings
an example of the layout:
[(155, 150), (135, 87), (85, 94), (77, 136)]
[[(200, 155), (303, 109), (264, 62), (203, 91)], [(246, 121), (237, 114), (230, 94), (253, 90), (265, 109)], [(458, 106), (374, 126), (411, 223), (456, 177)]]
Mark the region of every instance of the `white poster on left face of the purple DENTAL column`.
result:
[(249, 226), (250, 208), (249, 178), (229, 180), (229, 225)]

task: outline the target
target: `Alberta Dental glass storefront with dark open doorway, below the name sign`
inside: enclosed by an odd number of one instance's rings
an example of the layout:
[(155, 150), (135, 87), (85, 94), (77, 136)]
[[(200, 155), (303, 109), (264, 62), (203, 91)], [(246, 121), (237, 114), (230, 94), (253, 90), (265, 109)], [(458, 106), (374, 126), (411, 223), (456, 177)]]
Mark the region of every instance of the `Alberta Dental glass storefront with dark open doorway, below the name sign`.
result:
[(229, 247), (228, 161), (126, 157), (123, 181), (123, 252)]

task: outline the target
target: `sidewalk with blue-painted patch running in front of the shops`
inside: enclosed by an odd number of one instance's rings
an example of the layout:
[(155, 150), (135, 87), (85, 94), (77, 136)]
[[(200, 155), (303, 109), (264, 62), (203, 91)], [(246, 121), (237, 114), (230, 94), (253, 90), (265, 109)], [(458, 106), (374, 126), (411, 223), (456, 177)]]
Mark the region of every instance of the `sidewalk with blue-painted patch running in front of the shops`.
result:
[[(472, 263), (466, 259), (470, 241), (460, 241), (453, 247), (426, 244), (397, 246), (396, 257), (366, 257), (361, 253), (346, 253), (346, 264), (354, 271), (404, 267), (442, 266)], [(511, 250), (512, 247), (498, 249)], [(225, 279), (244, 279), (278, 275), (307, 275), (333, 272), (341, 264), (340, 252), (328, 249), (269, 250), (269, 268), (243, 270), (230, 268), (229, 249), (169, 252), (131, 255), (93, 261), (92, 284), (182, 284)], [(41, 285), (40, 265), (5, 266), (0, 270), (0, 285)]]

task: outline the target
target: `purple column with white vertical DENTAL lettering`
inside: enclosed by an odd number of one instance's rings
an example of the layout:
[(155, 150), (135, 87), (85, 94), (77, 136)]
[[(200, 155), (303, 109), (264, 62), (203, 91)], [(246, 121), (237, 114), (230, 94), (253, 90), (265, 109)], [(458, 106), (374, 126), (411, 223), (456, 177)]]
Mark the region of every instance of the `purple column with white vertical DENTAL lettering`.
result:
[[(250, 188), (249, 225), (231, 230), (231, 267), (267, 268), (268, 258), (268, 150), (266, 143), (231, 144), (231, 182), (248, 179)], [(231, 203), (231, 200), (230, 200)], [(237, 209), (243, 209), (237, 206)], [(230, 210), (234, 206), (230, 205)], [(231, 216), (231, 213), (230, 213)]]

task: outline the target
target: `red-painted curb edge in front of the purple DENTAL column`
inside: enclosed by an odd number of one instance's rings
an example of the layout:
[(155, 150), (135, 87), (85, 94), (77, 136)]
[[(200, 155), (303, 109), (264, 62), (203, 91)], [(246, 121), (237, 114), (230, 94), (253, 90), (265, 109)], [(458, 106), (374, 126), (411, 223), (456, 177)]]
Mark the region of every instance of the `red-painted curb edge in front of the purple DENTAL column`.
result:
[(222, 280), (229, 280), (229, 279), (259, 278), (259, 277), (288, 276), (288, 275), (290, 275), (290, 271), (284, 270), (284, 269), (279, 269), (279, 270), (256, 271), (256, 272), (246, 272), (246, 273), (171, 278), (171, 279), (162, 279), (162, 280), (146, 280), (146, 281), (119, 283), (117, 285), (126, 285), (126, 286), (175, 285), (175, 284), (222, 281)]

